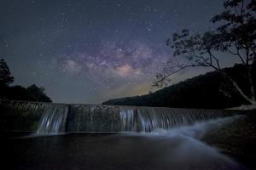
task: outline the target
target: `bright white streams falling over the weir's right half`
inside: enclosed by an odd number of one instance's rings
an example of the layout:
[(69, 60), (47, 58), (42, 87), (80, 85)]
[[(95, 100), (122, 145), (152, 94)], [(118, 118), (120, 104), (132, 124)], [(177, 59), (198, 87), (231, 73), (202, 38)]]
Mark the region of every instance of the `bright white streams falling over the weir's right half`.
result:
[(231, 112), (228, 114), (220, 110), (129, 106), (119, 108), (122, 132), (154, 132), (231, 115)]

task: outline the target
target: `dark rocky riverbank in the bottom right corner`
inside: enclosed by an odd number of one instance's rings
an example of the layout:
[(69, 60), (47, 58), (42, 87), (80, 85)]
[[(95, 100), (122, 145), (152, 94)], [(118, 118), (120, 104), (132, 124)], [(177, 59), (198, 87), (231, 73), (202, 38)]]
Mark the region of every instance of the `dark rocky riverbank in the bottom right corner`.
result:
[(203, 141), (246, 167), (256, 169), (256, 110), (208, 132)]

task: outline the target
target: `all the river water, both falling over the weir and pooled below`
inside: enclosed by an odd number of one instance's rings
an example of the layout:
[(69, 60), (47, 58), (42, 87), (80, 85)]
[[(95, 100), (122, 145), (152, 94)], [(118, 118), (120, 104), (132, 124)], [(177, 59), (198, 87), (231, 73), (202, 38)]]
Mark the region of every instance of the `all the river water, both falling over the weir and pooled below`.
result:
[[(15, 108), (21, 106), (22, 111), (27, 107), (35, 111), (37, 107), (43, 108), (28, 105), (19, 104)], [(241, 118), (233, 115), (234, 112), (215, 110), (44, 105), (36, 135), (3, 139), (3, 166), (7, 169), (245, 169), (201, 141), (212, 129)]]

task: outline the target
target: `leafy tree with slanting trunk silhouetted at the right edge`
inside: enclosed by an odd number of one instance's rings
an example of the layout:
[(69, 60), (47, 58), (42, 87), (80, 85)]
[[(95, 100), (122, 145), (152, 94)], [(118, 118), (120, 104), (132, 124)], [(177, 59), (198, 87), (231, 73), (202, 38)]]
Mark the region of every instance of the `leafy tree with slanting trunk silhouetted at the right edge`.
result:
[[(256, 2), (255, 0), (229, 0), (224, 2), (224, 12), (212, 17), (211, 22), (217, 23), (214, 31), (191, 34), (189, 29), (174, 33), (166, 40), (166, 45), (174, 50), (173, 60), (166, 68), (156, 75), (154, 86), (167, 84), (169, 77), (188, 67), (211, 67), (219, 71), (236, 91), (249, 103), (255, 104), (252, 65), (256, 61)], [(247, 74), (247, 87), (241, 88), (233, 77), (224, 71), (219, 54), (236, 56), (244, 65)], [(180, 58), (183, 56), (182, 62)]]

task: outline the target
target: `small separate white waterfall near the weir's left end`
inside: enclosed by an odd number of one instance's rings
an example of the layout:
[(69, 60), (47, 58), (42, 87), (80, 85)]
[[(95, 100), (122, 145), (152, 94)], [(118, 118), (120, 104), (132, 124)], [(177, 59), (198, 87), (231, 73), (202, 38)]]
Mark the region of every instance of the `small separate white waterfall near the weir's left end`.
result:
[(65, 132), (67, 112), (67, 105), (49, 105), (42, 114), (37, 133)]

